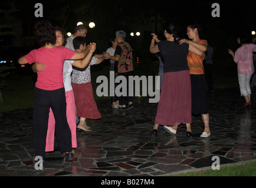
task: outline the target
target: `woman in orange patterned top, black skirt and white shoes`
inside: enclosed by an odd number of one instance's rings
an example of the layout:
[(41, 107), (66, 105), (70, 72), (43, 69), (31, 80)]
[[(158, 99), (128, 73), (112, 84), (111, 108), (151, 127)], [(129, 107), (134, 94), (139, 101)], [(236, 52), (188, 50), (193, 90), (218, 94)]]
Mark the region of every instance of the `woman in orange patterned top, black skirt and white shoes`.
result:
[[(188, 25), (187, 35), (189, 39), (183, 39), (180, 43), (186, 42), (195, 46), (202, 52), (207, 50), (207, 41), (200, 39), (201, 27), (198, 24)], [(188, 66), (191, 74), (191, 92), (192, 92), (192, 113), (202, 115), (202, 120), (205, 125), (204, 132), (201, 137), (209, 137), (211, 135), (209, 129), (209, 113), (207, 110), (207, 93), (205, 83), (205, 72), (203, 59), (201, 56), (195, 53), (189, 52), (187, 56)], [(187, 136), (192, 136), (191, 125), (186, 125)]]

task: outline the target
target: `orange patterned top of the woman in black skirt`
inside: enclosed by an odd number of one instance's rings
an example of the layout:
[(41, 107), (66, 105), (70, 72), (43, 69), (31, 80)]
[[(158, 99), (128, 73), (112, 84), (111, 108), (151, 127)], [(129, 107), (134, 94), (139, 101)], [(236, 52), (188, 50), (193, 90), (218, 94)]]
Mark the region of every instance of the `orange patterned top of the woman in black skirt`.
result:
[[(207, 43), (207, 41), (201, 39), (197, 43)], [(188, 60), (188, 67), (191, 75), (203, 75), (205, 73), (202, 57), (193, 52), (188, 52), (186, 59)]]

